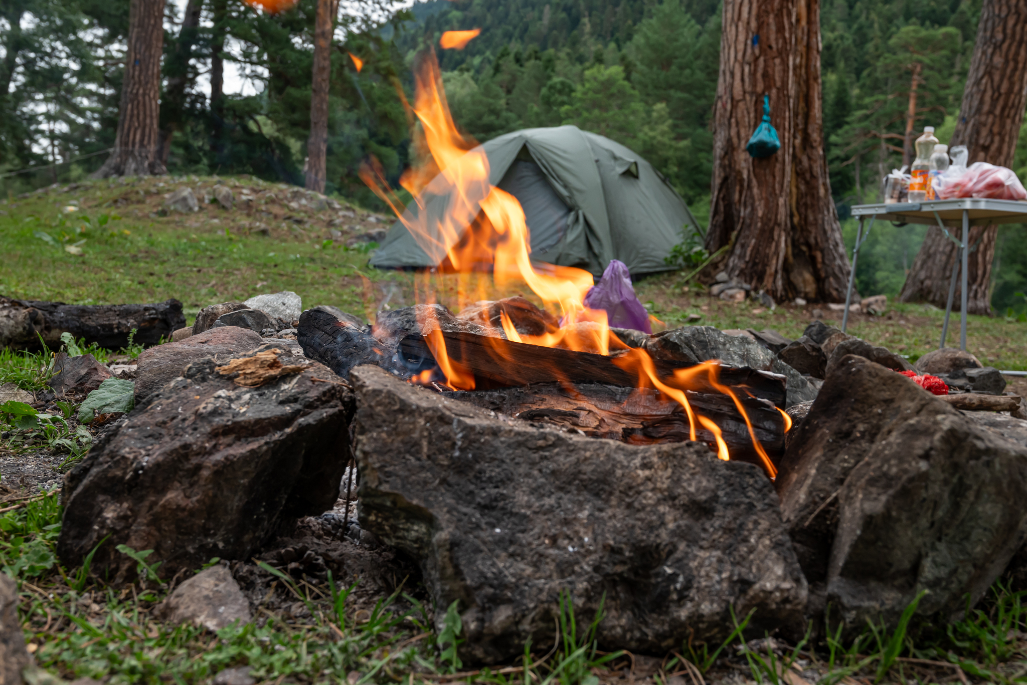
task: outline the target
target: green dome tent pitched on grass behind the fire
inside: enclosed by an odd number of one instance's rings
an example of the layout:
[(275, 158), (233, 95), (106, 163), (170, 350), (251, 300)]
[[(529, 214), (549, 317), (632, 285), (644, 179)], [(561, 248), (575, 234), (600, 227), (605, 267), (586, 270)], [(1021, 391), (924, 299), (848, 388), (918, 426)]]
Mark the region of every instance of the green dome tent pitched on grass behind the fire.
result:
[[(517, 197), (531, 232), (533, 261), (576, 266), (600, 276), (611, 259), (632, 274), (670, 269), (663, 258), (697, 228), (685, 201), (640, 155), (577, 126), (525, 128), (483, 144), (489, 182)], [(452, 187), (442, 176), (411, 203), (409, 221), (436, 226)], [(418, 213), (425, 213), (418, 217)], [(429, 229), (430, 230), (430, 229)], [(375, 251), (378, 268), (430, 268), (431, 258), (402, 221)]]

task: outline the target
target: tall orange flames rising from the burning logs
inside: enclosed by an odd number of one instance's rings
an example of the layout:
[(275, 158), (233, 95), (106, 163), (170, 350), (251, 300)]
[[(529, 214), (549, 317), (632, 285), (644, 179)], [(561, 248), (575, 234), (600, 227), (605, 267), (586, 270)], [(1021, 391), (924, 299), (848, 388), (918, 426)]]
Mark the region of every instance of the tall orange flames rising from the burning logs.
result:
[[(478, 35), (474, 32), (466, 40)], [(455, 40), (455, 39), (454, 39)], [(466, 44), (461, 43), (459, 47)], [(446, 47), (446, 42), (443, 43)], [(452, 42), (449, 46), (457, 46)], [(563, 347), (578, 351), (609, 354), (618, 350), (613, 363), (638, 377), (638, 387), (652, 388), (678, 403), (688, 417), (689, 437), (697, 439), (698, 428), (713, 435), (712, 448), (720, 459), (729, 459), (728, 447), (721, 428), (711, 419), (697, 414), (688, 402), (687, 391), (695, 388), (714, 388), (731, 397), (749, 429), (756, 453), (767, 473), (773, 478), (776, 469), (756, 436), (752, 421), (736, 393), (720, 383), (720, 364), (706, 361), (688, 369), (678, 369), (670, 377), (660, 377), (652, 357), (641, 348), (630, 348), (612, 333), (605, 311), (584, 306), (584, 298), (593, 287), (592, 273), (574, 267), (534, 264), (531, 261), (531, 236), (521, 204), (509, 193), (490, 183), (488, 157), (477, 142), (462, 136), (453, 122), (442, 87), (439, 64), (429, 53), (415, 78), (414, 105), (410, 109), (419, 123), (413, 135), (413, 149), (418, 163), (401, 177), (401, 185), (413, 196), (416, 210), (405, 211), (403, 203), (388, 187), (384, 174), (376, 160), (362, 168), (365, 183), (395, 212), (410, 234), (440, 269), (424, 272), (416, 280), (418, 294), (432, 301), (441, 284), (440, 271), (457, 274), (457, 300), (460, 308), (473, 302), (471, 280), (476, 271), (492, 271), (494, 286), (527, 286), (554, 313), (562, 317), (560, 328), (553, 333), (532, 336), (519, 332), (509, 315), (500, 313), (500, 327), (507, 340)], [(428, 195), (448, 196), (443, 216), (429, 218), (425, 212)], [(432, 286), (431, 278), (439, 279)], [(477, 300), (485, 300), (485, 289), (478, 279)], [(506, 343), (489, 338), (495, 358), (507, 358)], [(445, 337), (438, 326), (430, 326), (425, 336), (435, 360), (445, 374), (447, 384), (458, 389), (474, 387), (474, 376), (455, 363), (446, 348)], [(554, 369), (554, 380), (562, 380), (561, 370)], [(425, 372), (427, 373), (427, 372)], [(429, 374), (430, 375), (430, 374)], [(786, 417), (787, 418), (787, 417)]]

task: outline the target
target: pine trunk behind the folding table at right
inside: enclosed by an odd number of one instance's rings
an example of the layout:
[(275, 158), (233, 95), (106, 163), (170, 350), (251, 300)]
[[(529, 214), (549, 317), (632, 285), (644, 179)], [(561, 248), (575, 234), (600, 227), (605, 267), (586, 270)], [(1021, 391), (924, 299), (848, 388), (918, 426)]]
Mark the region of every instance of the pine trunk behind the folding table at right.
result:
[[(984, 0), (959, 121), (951, 141), (951, 145), (966, 146), (971, 163), (1013, 164), (1027, 105), (1027, 31), (1024, 27), (1027, 27), (1027, 2)], [(959, 235), (957, 232), (956, 237)], [(972, 248), (977, 244), (977, 249), (969, 254), (966, 270), (968, 313), (991, 312), (989, 291), (996, 235), (994, 226), (977, 226), (969, 230), (969, 244)], [(955, 256), (955, 244), (941, 229), (930, 228), (913, 260), (899, 299), (903, 302), (925, 300), (944, 307)], [(960, 282), (957, 281), (955, 310), (959, 309), (960, 296)]]

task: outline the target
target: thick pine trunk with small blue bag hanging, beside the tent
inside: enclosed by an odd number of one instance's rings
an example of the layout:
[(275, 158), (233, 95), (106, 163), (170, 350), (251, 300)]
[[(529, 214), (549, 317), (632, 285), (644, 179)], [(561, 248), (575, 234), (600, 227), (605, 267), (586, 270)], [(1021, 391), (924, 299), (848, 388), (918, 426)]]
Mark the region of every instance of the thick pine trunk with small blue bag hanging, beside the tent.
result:
[[(774, 299), (840, 301), (848, 261), (824, 157), (819, 0), (727, 0), (714, 112), (707, 250), (732, 242), (728, 275)], [(746, 144), (770, 97), (782, 148)]]

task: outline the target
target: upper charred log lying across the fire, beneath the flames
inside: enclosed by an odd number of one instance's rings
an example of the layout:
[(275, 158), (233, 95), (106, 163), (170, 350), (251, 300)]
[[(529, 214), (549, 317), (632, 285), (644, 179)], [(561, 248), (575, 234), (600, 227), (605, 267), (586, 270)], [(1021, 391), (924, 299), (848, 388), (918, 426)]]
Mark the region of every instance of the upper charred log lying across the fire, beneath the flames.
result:
[[(450, 359), (473, 373), (474, 389), (478, 390), (553, 381), (602, 383), (629, 388), (639, 384), (637, 374), (617, 366), (617, 357), (614, 356), (528, 345), (466, 333), (444, 332), (443, 339)], [(408, 366), (412, 360), (433, 358), (427, 343), (416, 334), (404, 338), (398, 351)], [(672, 376), (676, 369), (695, 366), (688, 361), (661, 359), (653, 359), (653, 364), (660, 378)], [(421, 366), (424, 366), (423, 363)], [(734, 388), (739, 396), (748, 392), (760, 399), (768, 399), (775, 407), (785, 406), (783, 376), (749, 368), (722, 367), (720, 383)], [(719, 394), (703, 378), (695, 379), (694, 390)]]

